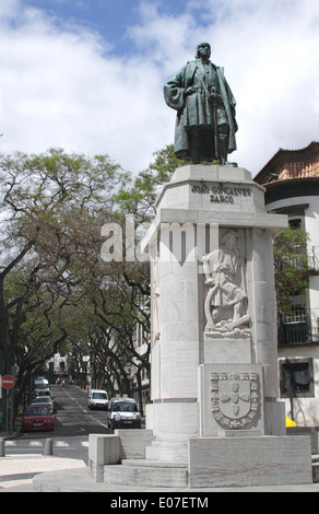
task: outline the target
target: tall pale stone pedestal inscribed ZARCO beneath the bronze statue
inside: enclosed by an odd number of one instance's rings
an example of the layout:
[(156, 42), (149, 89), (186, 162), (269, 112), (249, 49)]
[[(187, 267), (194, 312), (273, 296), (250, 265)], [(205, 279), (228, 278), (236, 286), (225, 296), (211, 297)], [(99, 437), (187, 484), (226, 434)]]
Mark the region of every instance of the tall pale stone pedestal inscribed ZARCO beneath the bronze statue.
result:
[[(200, 476), (193, 448), (204, 455), (208, 447), (214, 478), (208, 476), (205, 486), (218, 483), (216, 441), (233, 445), (234, 460), (244, 439), (267, 446), (268, 480), (272, 466), (281, 468), (277, 448), (286, 437), (277, 400), (272, 240), (287, 219), (268, 214), (263, 195), (244, 168), (180, 167), (163, 187), (144, 240), (152, 268), (153, 404), (146, 427), (156, 437), (145, 455), (188, 463), (191, 484), (199, 486), (192, 476)], [(300, 441), (291, 443), (298, 452)], [(309, 469), (310, 454), (307, 479)]]

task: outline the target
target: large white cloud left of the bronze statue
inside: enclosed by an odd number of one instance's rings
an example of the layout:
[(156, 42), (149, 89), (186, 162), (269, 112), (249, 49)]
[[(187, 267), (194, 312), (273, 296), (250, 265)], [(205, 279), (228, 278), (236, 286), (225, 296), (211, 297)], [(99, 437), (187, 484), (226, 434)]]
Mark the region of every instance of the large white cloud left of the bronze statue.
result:
[[(40, 11), (15, 5), (5, 22), (0, 16), (1, 150), (62, 147), (108, 153), (126, 170), (146, 167), (164, 143), (156, 133), (163, 118), (154, 91), (162, 93), (153, 65), (117, 59), (97, 34), (63, 30)], [(9, 14), (19, 14), (14, 26)]]

